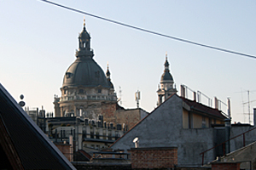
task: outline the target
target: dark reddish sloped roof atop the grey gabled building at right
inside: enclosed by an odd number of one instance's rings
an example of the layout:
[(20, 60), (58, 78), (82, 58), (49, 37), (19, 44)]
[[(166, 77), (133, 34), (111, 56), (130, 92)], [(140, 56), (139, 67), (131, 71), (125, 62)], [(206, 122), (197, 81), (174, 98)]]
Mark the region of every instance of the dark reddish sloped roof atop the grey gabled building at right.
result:
[(218, 109), (213, 109), (212, 107), (208, 107), (207, 105), (202, 105), (201, 103), (198, 103), (194, 100), (185, 99), (183, 97), (180, 97), (183, 99), (183, 102), (185, 102), (187, 105), (190, 106), (191, 110), (194, 111), (200, 111), (201, 113), (205, 113), (209, 116), (217, 116), (220, 119), (225, 119), (226, 117), (221, 113), (221, 111), (218, 111)]

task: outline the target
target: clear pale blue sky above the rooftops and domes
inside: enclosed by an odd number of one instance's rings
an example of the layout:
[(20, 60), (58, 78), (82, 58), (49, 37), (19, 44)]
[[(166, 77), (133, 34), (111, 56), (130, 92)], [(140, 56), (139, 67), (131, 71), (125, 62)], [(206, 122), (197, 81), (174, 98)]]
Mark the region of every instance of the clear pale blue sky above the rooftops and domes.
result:
[[(256, 55), (256, 1), (151, 1), (151, 0), (55, 0), (131, 26), (172, 37)], [(83, 14), (39, 0), (0, 0), (0, 82), (26, 106), (54, 111), (54, 94), (61, 95), (65, 71), (78, 48)], [(122, 105), (135, 108), (135, 92), (141, 91), (140, 106), (156, 107), (156, 90), (164, 71), (166, 52), (180, 94), (184, 84), (224, 103), (231, 100), (232, 122), (248, 122), (256, 107), (256, 59), (227, 54), (159, 37), (85, 15), (94, 59), (111, 79)], [(207, 100), (204, 99), (207, 103)], [(226, 107), (222, 107), (226, 112)]]

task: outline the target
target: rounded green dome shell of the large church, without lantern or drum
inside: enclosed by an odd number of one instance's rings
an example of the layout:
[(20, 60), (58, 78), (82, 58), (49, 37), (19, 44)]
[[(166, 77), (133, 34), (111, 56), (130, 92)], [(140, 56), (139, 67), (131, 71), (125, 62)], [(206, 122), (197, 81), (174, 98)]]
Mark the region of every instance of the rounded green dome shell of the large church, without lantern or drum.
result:
[(67, 69), (62, 87), (97, 87), (111, 88), (102, 68), (90, 57), (79, 57)]

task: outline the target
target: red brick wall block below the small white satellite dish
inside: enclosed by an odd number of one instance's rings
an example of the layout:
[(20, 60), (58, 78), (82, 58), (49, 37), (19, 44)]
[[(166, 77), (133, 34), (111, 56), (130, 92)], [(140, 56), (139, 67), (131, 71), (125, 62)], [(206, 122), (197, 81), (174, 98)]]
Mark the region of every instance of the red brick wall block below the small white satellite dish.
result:
[(165, 168), (177, 165), (177, 148), (131, 148), (132, 168)]

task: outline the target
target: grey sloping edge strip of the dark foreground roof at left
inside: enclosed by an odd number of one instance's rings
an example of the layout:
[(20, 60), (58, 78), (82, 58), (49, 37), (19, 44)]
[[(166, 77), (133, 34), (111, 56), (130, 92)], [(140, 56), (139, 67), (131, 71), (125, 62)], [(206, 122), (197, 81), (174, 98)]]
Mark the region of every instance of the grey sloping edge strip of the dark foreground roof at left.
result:
[(72, 163), (70, 161), (67, 160), (67, 158), (65, 156), (63, 156), (63, 154), (61, 153), (61, 151), (55, 146), (55, 144), (53, 144), (49, 138), (44, 134), (44, 132), (38, 127), (38, 125), (32, 121), (32, 119), (26, 114), (25, 111), (23, 111), (23, 109), (20, 107), (20, 105), (18, 105), (18, 103), (15, 101), (15, 99), (9, 94), (9, 92), (3, 88), (2, 83), (0, 83), (0, 93), (3, 93), (5, 95), (5, 97), (7, 97), (7, 99), (9, 100), (10, 104), (13, 105), (15, 107), (15, 109), (17, 109), (20, 112), (20, 115), (23, 116), (24, 118), (26, 118), (26, 121), (30, 123), (30, 125), (32, 126), (33, 130), (36, 131), (36, 133), (38, 133), (38, 135), (43, 139), (44, 143), (48, 144), (48, 146), (52, 149), (52, 151), (55, 151), (55, 153), (59, 156), (59, 158), (61, 158), (61, 160), (63, 162), (66, 163), (66, 165), (68, 167), (70, 167), (70, 169), (76, 169), (75, 167), (73, 167)]

